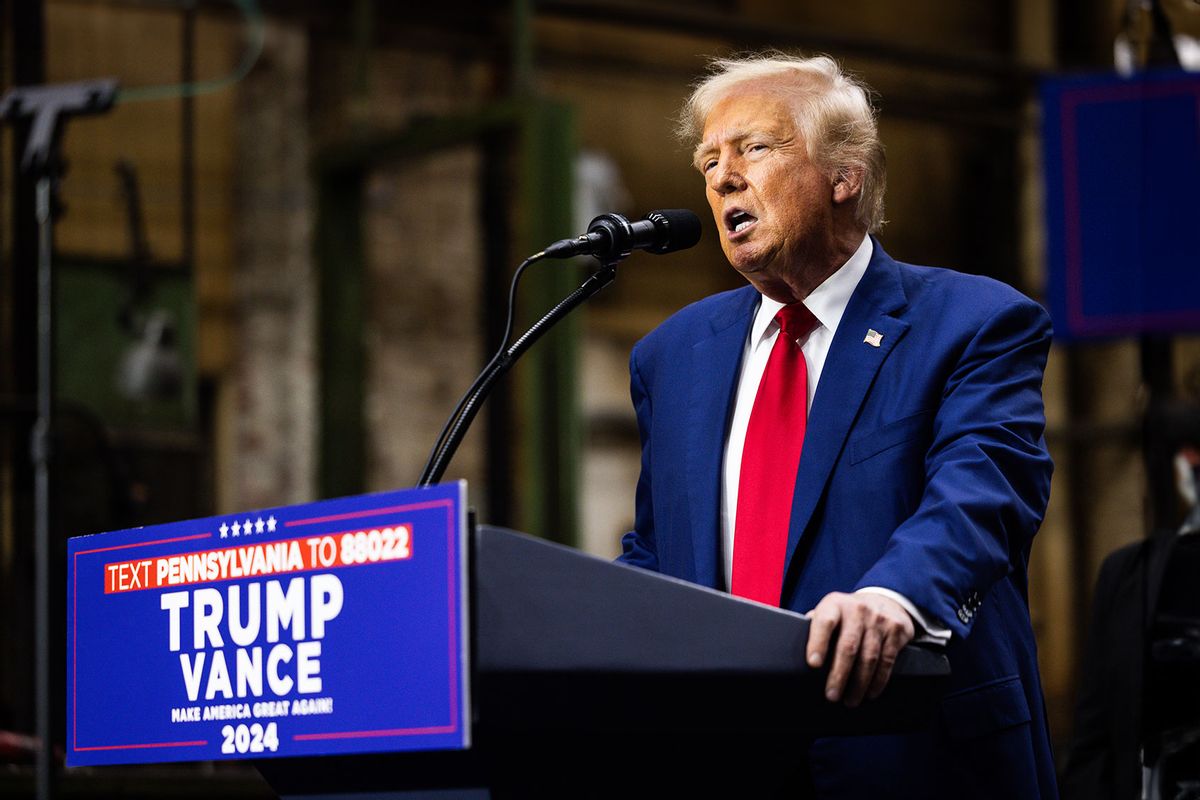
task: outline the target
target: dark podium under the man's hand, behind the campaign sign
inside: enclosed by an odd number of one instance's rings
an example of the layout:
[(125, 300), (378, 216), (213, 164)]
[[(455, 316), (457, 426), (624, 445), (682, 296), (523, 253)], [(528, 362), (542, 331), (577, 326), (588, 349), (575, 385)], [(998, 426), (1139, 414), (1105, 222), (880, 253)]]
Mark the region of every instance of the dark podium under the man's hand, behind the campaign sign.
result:
[(809, 740), (920, 727), (949, 674), (905, 648), (846, 709), (799, 614), (499, 528), (472, 551), (470, 750), (258, 762), (281, 796), (797, 796)]

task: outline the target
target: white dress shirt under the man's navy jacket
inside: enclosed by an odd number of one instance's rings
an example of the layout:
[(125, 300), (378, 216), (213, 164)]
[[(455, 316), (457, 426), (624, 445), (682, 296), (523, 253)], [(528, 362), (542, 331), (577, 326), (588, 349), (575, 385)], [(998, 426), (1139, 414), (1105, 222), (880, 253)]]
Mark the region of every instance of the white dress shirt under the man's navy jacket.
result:
[[(863, 243), (858, 246), (850, 260), (804, 299), (804, 305), (817, 319), (817, 326), (800, 345), (809, 371), (809, 410), (812, 408), (812, 397), (816, 395), (817, 383), (821, 380), (826, 356), (829, 355), (829, 345), (833, 343), (834, 333), (838, 332), (838, 323), (841, 321), (841, 315), (846, 312), (846, 306), (850, 305), (851, 295), (854, 294), (858, 282), (866, 272), (866, 265), (871, 263), (872, 252), (871, 237), (864, 236)], [(750, 336), (742, 356), (742, 373), (738, 377), (738, 389), (733, 401), (733, 419), (730, 421), (728, 438), (725, 440), (725, 463), (721, 474), (721, 552), (726, 587), (733, 583), (733, 546), (737, 534), (742, 450), (745, 446), (746, 427), (750, 425), (750, 411), (754, 409), (755, 396), (758, 393), (758, 383), (762, 380), (762, 373), (767, 369), (767, 360), (775, 345), (775, 337), (779, 336), (775, 314), (782, 307), (784, 303), (766, 295), (762, 296), (758, 312), (750, 325)], [(934, 642), (949, 639), (949, 628), (931, 625), (904, 595), (882, 587), (866, 587), (859, 591), (881, 594), (900, 603), (920, 628), (917, 632), (919, 638)]]

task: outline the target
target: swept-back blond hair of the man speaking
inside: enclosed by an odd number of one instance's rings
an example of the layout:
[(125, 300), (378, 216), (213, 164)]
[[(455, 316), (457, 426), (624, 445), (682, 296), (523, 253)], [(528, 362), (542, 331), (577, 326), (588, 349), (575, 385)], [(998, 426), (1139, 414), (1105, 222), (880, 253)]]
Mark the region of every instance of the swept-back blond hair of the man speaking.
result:
[(862, 175), (854, 216), (869, 231), (877, 231), (883, 225), (887, 169), (871, 90), (827, 55), (769, 52), (713, 60), (708, 76), (696, 84), (680, 110), (679, 139), (694, 146), (713, 108), (751, 82), (773, 84), (772, 89), (790, 100), (817, 169), (830, 180), (848, 172)]

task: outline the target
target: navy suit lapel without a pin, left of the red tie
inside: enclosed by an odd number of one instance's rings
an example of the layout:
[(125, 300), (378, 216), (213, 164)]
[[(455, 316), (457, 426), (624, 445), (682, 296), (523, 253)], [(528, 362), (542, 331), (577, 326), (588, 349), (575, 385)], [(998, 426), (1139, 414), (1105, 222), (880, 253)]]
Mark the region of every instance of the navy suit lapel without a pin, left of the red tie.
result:
[(688, 407), (688, 506), (691, 515), (696, 582), (721, 588), (719, 569), (721, 465), (733, 391), (750, 323), (758, 307), (754, 287), (737, 291), (709, 320), (712, 332), (691, 349)]

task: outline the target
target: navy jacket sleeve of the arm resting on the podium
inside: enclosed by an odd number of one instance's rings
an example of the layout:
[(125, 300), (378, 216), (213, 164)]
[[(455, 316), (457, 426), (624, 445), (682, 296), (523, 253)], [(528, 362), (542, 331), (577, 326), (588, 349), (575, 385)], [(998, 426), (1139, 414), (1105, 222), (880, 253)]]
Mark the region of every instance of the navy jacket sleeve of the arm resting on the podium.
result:
[(857, 588), (898, 591), (966, 636), (995, 583), (1024, 581), (1052, 470), (1042, 403), (1049, 347), (1045, 311), (1024, 297), (967, 338), (934, 415), (919, 505)]

